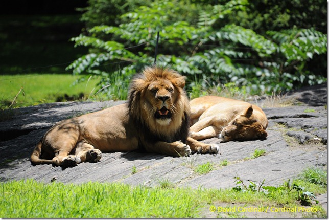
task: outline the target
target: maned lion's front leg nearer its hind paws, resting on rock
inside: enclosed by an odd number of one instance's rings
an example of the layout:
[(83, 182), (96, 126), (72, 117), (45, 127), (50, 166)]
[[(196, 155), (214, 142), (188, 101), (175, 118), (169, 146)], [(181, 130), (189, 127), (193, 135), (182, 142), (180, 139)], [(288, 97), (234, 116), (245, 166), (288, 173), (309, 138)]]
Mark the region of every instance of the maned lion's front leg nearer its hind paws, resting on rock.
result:
[(189, 156), (191, 155), (190, 146), (181, 141), (167, 143), (158, 141), (155, 143), (144, 143), (144, 147), (148, 152), (161, 153), (170, 156)]

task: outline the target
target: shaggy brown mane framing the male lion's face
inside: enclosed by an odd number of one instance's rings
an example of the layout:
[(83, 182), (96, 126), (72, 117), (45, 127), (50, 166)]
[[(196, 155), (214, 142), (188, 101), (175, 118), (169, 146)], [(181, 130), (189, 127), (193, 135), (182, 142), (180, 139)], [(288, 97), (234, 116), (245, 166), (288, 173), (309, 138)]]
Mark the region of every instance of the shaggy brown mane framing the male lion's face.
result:
[[(146, 96), (151, 82), (166, 79), (174, 86), (172, 97), (172, 116), (168, 125), (160, 125), (155, 121), (154, 110), (148, 107), (152, 100)], [(136, 74), (129, 86), (129, 114), (144, 138), (161, 141), (186, 141), (189, 135), (190, 104), (184, 91), (185, 77), (178, 72), (161, 67), (147, 67), (142, 73)]]

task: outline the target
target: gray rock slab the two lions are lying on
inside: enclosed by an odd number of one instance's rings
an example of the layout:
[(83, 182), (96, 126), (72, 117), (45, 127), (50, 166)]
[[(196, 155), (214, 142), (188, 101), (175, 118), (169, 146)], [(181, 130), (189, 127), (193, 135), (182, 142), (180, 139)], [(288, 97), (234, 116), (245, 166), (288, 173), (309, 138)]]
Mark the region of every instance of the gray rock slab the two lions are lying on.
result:
[[(52, 103), (13, 109), (6, 112), (11, 119), (0, 121), (0, 181), (32, 178), (44, 183), (99, 181), (147, 186), (170, 181), (181, 187), (228, 188), (236, 186), (234, 177), (238, 176), (246, 182), (259, 183), (265, 179), (264, 185), (278, 186), (298, 177), (307, 166), (327, 165), (326, 86), (325, 95), (323, 91), (307, 92), (316, 96), (309, 96), (308, 104), (264, 108), (269, 119), (265, 140), (227, 143), (221, 143), (218, 138), (204, 140), (219, 144), (219, 155), (175, 158), (137, 151), (107, 152), (98, 163), (81, 163), (65, 169), (53, 165), (32, 166), (31, 153), (45, 132), (62, 119), (99, 111), (122, 101)], [(316, 102), (311, 106), (313, 99)], [(252, 158), (255, 149), (264, 149), (266, 153)], [(223, 160), (228, 161), (227, 166), (220, 165)], [(207, 162), (213, 163), (215, 169), (197, 174), (194, 167)], [(132, 172), (133, 167), (136, 173)]]

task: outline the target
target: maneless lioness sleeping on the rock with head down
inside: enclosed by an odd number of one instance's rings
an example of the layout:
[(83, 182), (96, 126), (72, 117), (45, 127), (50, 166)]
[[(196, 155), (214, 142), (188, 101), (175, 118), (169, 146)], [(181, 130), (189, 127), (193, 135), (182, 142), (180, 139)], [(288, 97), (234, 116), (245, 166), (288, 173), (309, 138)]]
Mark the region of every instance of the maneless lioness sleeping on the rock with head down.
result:
[(264, 139), (268, 120), (262, 109), (248, 102), (218, 96), (193, 99), (191, 137), (218, 137), (223, 142)]

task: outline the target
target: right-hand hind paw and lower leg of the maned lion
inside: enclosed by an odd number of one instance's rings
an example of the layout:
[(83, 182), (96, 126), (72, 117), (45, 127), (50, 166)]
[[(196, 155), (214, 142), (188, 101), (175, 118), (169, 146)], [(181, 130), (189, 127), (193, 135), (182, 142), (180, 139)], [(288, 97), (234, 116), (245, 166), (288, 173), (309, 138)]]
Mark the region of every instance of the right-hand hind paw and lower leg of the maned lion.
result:
[(80, 158), (81, 162), (98, 162), (102, 158), (102, 152), (99, 149), (83, 142), (76, 144), (75, 155)]

